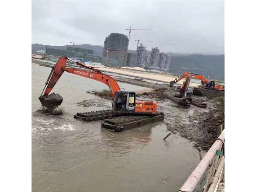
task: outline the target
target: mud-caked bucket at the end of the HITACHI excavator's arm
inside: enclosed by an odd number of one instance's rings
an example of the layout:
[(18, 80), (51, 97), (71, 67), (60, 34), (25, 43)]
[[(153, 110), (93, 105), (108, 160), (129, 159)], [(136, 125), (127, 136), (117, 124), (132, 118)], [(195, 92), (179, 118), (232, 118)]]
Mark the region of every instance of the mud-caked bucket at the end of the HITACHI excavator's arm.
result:
[(38, 98), (43, 107), (46, 107), (49, 110), (53, 110), (62, 104), (63, 97), (59, 94), (52, 93), (48, 96), (40, 96)]

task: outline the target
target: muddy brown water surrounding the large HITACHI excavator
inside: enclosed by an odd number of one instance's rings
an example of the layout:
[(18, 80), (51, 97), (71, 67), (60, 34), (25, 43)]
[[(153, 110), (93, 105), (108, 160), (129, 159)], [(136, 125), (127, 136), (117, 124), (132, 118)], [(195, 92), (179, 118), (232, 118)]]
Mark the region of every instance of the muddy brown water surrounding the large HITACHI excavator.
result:
[[(108, 89), (105, 84), (74, 74), (64, 73), (52, 91), (64, 98), (63, 115), (36, 111), (50, 70), (32, 64), (32, 191), (176, 192), (181, 188), (199, 163), (192, 142), (177, 134), (164, 141), (169, 131), (163, 122), (113, 133), (101, 129), (101, 121), (74, 119), (77, 112), (111, 107), (110, 100), (86, 93)], [(119, 85), (125, 90), (145, 88)], [(83, 100), (105, 105), (77, 104)]]

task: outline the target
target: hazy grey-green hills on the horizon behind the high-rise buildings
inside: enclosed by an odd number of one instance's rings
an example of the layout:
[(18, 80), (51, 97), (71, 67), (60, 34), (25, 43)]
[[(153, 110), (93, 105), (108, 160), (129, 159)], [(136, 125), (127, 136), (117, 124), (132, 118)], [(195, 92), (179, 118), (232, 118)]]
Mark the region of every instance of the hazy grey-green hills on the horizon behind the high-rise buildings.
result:
[[(45, 50), (45, 47), (49, 45), (32, 44), (32, 51)], [(72, 45), (69, 45), (72, 46)], [(49, 46), (52, 48), (66, 49), (64, 46)], [(94, 55), (102, 56), (103, 46), (82, 44), (75, 45), (77, 48), (88, 48), (93, 50)], [(132, 55), (136, 55), (135, 50), (128, 50)], [(146, 54), (150, 55), (150, 51), (146, 50)], [(195, 74), (202, 74), (206, 78), (224, 80), (224, 55), (202, 55), (202, 54), (181, 54), (174, 52), (167, 52), (166, 54), (172, 56), (169, 72), (173, 74), (183, 74), (186, 71), (190, 71)], [(136, 57), (136, 56), (135, 56)]]

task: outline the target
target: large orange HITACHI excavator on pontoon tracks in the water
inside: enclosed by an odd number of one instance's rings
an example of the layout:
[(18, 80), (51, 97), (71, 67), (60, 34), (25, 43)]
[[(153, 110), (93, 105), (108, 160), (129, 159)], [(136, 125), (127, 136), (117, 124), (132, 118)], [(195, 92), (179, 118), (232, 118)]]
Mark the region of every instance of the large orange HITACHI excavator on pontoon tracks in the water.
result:
[[(67, 60), (74, 62), (77, 66), (66, 66)], [(53, 110), (61, 105), (63, 100), (62, 96), (55, 93), (49, 95), (49, 93), (65, 71), (105, 83), (109, 87), (110, 94), (113, 97), (111, 110), (77, 113), (74, 115), (74, 118), (79, 118), (84, 121), (105, 119), (105, 122), (102, 123), (102, 127), (113, 132), (139, 127), (164, 119), (163, 112), (157, 111), (156, 101), (149, 99), (137, 100), (135, 92), (121, 91), (115, 79), (111, 78), (106, 73), (84, 65), (79, 61), (73, 61), (68, 57), (60, 57), (53, 66), (44, 89), (46, 86), (47, 87), (45, 91), (43, 89), (39, 97), (43, 107)]]

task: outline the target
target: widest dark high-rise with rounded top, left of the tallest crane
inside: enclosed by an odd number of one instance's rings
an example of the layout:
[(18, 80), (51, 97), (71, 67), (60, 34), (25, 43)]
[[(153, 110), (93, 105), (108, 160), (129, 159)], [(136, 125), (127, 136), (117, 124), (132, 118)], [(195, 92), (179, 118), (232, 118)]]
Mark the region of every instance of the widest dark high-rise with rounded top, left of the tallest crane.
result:
[(124, 59), (128, 41), (128, 37), (124, 34), (111, 33), (104, 41), (103, 57), (115, 59), (120, 66), (125, 66)]

